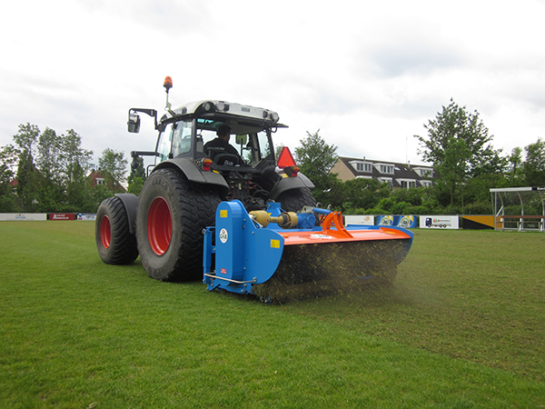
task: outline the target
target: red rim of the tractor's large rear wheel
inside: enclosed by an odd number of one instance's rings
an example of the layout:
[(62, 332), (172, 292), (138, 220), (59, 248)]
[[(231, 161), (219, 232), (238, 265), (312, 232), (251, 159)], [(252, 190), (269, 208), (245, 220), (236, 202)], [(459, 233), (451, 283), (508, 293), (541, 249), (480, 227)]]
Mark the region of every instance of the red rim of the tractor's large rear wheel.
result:
[(147, 219), (148, 240), (155, 254), (164, 254), (173, 236), (173, 216), (163, 197), (156, 197)]

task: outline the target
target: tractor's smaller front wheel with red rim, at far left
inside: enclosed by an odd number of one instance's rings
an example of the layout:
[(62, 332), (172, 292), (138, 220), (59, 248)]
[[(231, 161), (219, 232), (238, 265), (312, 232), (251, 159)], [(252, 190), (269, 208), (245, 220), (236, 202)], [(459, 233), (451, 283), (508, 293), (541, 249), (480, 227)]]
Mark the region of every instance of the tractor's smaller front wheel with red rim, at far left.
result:
[(129, 230), (127, 210), (119, 197), (108, 197), (98, 206), (94, 239), (105, 264), (131, 264), (138, 257), (136, 236)]

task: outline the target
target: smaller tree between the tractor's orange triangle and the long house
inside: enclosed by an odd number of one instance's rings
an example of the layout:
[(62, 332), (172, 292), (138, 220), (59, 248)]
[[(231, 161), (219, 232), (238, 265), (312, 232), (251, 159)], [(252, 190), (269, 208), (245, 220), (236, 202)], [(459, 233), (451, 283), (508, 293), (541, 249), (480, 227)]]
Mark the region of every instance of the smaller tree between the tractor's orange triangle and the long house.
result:
[(295, 148), (295, 158), (301, 172), (316, 186), (312, 194), (323, 203), (326, 199), (324, 194), (332, 188), (336, 178), (329, 172), (339, 156), (336, 154), (337, 146), (327, 145), (319, 133), (320, 129), (314, 134), (307, 131), (307, 137), (299, 141), (301, 146)]

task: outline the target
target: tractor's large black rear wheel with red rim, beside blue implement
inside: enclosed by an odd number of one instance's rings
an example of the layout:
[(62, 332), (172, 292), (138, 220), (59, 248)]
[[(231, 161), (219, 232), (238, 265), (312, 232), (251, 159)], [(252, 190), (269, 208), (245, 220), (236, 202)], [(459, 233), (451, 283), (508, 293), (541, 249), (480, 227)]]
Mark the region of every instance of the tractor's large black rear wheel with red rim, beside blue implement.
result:
[(214, 224), (220, 195), (173, 168), (153, 172), (138, 202), (136, 237), (147, 274), (161, 281), (203, 278), (203, 229)]

